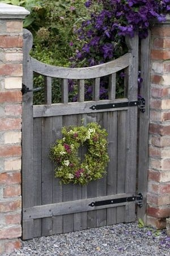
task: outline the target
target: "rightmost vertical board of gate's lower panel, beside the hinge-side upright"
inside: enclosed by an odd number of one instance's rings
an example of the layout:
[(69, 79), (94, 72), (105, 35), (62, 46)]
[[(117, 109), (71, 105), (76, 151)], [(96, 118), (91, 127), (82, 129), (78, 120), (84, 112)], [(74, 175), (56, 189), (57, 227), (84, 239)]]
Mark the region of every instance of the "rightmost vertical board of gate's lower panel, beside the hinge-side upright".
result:
[[(117, 193), (125, 193), (126, 177), (126, 110), (118, 111), (117, 118)], [(124, 222), (125, 207), (117, 207), (117, 223)]]

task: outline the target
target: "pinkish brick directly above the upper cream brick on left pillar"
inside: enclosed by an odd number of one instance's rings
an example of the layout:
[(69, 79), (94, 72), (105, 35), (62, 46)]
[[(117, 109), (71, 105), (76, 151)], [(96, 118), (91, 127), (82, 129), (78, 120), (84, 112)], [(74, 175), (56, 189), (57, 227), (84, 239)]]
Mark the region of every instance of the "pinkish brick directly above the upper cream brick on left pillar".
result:
[(22, 76), (22, 64), (0, 64), (1, 76)]

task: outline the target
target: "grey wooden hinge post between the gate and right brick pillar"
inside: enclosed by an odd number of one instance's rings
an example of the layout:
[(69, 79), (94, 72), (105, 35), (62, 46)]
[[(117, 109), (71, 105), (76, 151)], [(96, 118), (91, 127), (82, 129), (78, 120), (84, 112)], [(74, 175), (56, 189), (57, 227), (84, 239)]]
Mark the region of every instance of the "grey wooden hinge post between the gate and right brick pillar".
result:
[(138, 160), (138, 192), (143, 195), (143, 207), (138, 208), (138, 218), (146, 224), (146, 196), (148, 171), (148, 126), (150, 102), (150, 31), (146, 39), (141, 41), (141, 77), (143, 79), (141, 96), (145, 98), (145, 113), (139, 113), (139, 160)]

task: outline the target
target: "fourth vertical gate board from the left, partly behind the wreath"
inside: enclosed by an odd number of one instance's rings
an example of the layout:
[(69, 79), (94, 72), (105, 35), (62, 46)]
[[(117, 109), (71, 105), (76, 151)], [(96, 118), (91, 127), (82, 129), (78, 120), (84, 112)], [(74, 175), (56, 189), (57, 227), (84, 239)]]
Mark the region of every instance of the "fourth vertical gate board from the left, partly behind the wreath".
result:
[[(78, 115), (63, 116), (63, 126), (78, 125)], [(63, 185), (63, 201), (74, 200), (74, 185)], [(63, 216), (63, 233), (73, 232), (74, 230), (74, 214), (66, 214)]]

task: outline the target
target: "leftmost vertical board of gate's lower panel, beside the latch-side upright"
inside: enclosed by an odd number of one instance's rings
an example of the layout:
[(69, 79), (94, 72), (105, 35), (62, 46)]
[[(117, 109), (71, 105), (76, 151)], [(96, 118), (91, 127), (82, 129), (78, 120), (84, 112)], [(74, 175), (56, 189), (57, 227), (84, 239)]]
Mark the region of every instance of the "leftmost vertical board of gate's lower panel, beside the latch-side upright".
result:
[[(41, 157), (42, 157), (42, 119), (33, 119), (33, 172), (34, 172), (34, 205), (41, 205)], [(41, 236), (41, 218), (33, 221), (33, 237)]]

